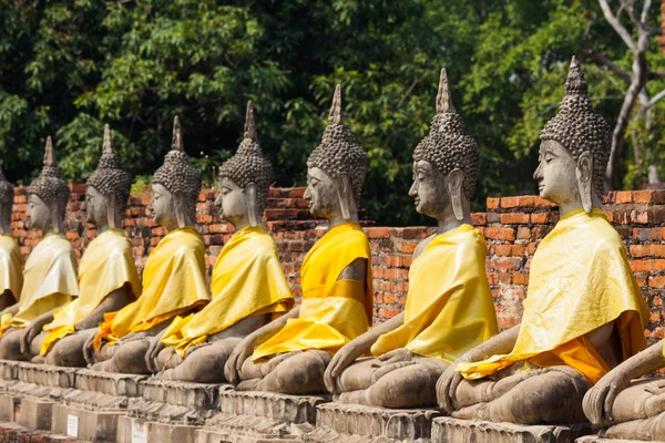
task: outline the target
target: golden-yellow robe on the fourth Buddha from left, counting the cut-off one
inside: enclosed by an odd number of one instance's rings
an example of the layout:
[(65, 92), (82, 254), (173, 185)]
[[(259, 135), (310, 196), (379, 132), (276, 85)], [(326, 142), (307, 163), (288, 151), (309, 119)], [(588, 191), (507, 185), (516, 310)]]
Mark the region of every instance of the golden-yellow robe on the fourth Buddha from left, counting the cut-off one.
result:
[(143, 270), (143, 293), (116, 312), (104, 315), (94, 339), (114, 344), (130, 332), (145, 331), (208, 302), (205, 285), (205, 247), (201, 235), (186, 226), (166, 234), (151, 253)]

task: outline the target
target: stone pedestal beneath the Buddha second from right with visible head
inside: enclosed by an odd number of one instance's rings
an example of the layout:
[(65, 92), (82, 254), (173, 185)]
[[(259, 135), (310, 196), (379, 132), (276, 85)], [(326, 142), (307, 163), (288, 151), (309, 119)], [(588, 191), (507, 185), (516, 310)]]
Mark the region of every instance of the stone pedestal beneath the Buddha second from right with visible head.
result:
[(441, 413), (433, 409), (391, 410), (330, 402), (317, 406), (316, 427), (305, 435), (304, 440), (426, 442), (431, 437), (432, 420), (440, 415)]

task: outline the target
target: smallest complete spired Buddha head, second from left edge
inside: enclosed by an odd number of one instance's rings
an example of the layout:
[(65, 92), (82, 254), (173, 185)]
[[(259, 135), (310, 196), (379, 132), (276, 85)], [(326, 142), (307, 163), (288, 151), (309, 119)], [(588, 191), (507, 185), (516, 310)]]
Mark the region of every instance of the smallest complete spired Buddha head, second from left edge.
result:
[(70, 189), (60, 177), (60, 168), (53, 155), (53, 142), (47, 138), (44, 166), (28, 188), (28, 215), (32, 229), (62, 233)]

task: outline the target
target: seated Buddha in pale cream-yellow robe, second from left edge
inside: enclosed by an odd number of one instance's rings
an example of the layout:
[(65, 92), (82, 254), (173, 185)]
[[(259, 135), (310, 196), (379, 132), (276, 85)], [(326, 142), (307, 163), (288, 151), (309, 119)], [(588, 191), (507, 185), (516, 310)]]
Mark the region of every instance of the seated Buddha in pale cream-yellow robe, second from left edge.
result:
[(64, 237), (70, 189), (60, 177), (51, 137), (47, 138), (42, 172), (30, 184), (28, 196), (31, 228), (41, 230), (43, 237), (25, 261), (19, 301), (0, 313), (3, 360), (25, 360), (32, 334), (39, 333), (49, 315), (79, 295), (74, 248)]

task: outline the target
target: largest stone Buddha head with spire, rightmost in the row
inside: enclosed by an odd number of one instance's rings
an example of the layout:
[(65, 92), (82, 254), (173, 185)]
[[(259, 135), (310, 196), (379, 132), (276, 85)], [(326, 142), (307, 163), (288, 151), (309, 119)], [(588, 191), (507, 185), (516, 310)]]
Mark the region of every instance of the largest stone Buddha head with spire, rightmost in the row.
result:
[(540, 196), (560, 207), (601, 207), (612, 130), (593, 111), (580, 63), (573, 56), (559, 113), (540, 135), (539, 166), (533, 174)]

